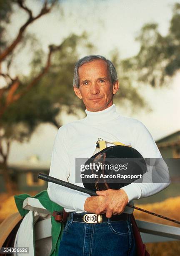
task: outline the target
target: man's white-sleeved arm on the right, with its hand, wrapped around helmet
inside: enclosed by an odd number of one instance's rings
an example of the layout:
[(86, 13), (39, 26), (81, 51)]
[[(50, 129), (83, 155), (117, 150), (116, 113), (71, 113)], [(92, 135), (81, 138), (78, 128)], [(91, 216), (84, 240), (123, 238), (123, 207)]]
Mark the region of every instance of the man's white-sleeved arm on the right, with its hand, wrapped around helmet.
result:
[[(143, 123), (138, 122), (133, 136), (132, 141), (134, 143), (132, 146), (137, 149), (144, 158), (162, 159), (155, 141)], [(163, 163), (163, 159), (161, 163)], [(104, 196), (106, 200), (104, 204), (97, 208), (96, 213), (100, 214), (106, 211), (106, 217), (110, 218), (112, 214), (122, 213), (128, 202), (154, 195), (168, 187), (170, 184), (169, 171), (168, 168), (166, 168), (166, 164), (162, 164), (162, 168), (163, 179), (161, 179), (162, 177), (159, 175), (160, 177), (157, 177), (157, 179), (159, 178), (159, 183), (131, 183), (119, 190), (107, 189), (105, 191), (98, 191), (97, 195)], [(145, 181), (152, 181), (152, 172), (150, 169), (144, 175)], [(161, 180), (162, 182), (160, 182)]]

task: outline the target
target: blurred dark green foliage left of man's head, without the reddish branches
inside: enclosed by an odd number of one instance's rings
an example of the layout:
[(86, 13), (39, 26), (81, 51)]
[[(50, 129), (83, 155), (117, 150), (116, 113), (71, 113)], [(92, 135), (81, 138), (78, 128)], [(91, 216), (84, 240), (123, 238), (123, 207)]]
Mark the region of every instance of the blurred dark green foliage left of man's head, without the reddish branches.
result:
[[(92, 45), (87, 43), (87, 35), (74, 34), (65, 38), (61, 43), (60, 50), (52, 55), (51, 66), (42, 79), (37, 81), (19, 100), (12, 102), (1, 117), (1, 158), (4, 170), (7, 166), (9, 148), (12, 141), (28, 141), (40, 123), (52, 123), (56, 128), (62, 124), (58, 118), (62, 107), (66, 107), (67, 113), (76, 113), (75, 105), (81, 108), (73, 95), (72, 79), (74, 63), (77, 61), (77, 46), (81, 49), (91, 49)], [(55, 46), (51, 46), (55, 47)], [(43, 67), (42, 49), (35, 51), (35, 57), (31, 63), (30, 75), (22, 77), (22, 87), (29, 84), (32, 76), (36, 76)], [(20, 90), (20, 89), (19, 89)], [(6, 148), (6, 150), (5, 150)], [(8, 179), (7, 171), (4, 172), (5, 180)], [(12, 182), (6, 182), (8, 191), (12, 188)]]

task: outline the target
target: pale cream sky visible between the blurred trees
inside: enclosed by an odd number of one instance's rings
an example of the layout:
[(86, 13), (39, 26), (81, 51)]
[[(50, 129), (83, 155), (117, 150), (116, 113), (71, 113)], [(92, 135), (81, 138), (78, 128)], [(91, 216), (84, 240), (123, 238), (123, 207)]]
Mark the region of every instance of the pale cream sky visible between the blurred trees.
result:
[[(60, 44), (70, 33), (81, 34), (87, 31), (89, 39), (95, 45), (93, 54), (110, 57), (110, 52), (117, 49), (120, 58), (124, 59), (138, 53), (139, 44), (135, 41), (140, 28), (145, 23), (159, 24), (163, 35), (168, 32), (172, 17), (174, 0), (67, 0), (61, 2), (60, 8), (35, 21), (29, 28), (29, 33), (35, 33), (40, 46), (47, 52), (49, 44)], [(34, 14), (40, 9), (41, 1), (28, 0), (27, 5)], [(7, 27), (10, 38), (13, 39), (18, 28), (26, 20), (23, 11), (15, 11), (10, 25)], [(85, 52), (80, 52), (80, 57)], [(28, 74), (29, 61), (32, 52), (25, 47), (16, 59), (14, 70)], [(125, 116), (131, 116), (142, 121), (155, 140), (180, 130), (180, 73), (170, 81), (168, 87), (153, 89), (146, 85), (140, 93), (153, 109), (147, 113), (139, 110), (132, 113), (130, 109), (119, 108), (117, 111)], [(69, 123), (76, 118), (63, 115), (63, 123)], [(52, 125), (40, 125), (32, 135), (30, 142), (14, 142), (10, 149), (9, 163), (23, 161), (32, 155), (38, 155), (40, 161), (50, 161), (52, 147), (57, 129)], [(45, 146), (44, 146), (45, 145)]]

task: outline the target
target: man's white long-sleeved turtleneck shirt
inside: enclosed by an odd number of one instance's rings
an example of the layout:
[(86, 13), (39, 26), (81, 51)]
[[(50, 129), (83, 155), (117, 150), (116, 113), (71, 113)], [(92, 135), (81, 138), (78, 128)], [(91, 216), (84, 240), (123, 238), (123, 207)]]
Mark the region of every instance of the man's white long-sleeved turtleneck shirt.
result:
[[(134, 118), (121, 116), (116, 112), (115, 104), (102, 111), (85, 112), (87, 116), (84, 119), (59, 128), (52, 150), (50, 176), (75, 184), (75, 159), (90, 158), (95, 151), (98, 138), (131, 145), (144, 158), (162, 158), (143, 123)], [(165, 177), (167, 183), (131, 183), (123, 187), (129, 202), (154, 195), (167, 187), (170, 183), (168, 170)], [(84, 187), (81, 183), (77, 185)], [(90, 196), (52, 182), (48, 183), (47, 192), (50, 199), (64, 207), (67, 212), (77, 213), (84, 212), (85, 200)], [(128, 207), (125, 209), (128, 213), (132, 211)]]

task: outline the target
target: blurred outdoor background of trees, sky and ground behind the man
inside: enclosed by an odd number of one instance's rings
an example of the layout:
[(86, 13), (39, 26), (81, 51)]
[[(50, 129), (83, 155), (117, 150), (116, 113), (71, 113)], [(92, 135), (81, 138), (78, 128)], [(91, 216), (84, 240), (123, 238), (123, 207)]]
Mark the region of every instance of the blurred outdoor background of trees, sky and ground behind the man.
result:
[[(72, 89), (77, 59), (98, 54), (118, 72), (117, 111), (142, 121), (164, 158), (180, 158), (180, 2), (175, 0), (0, 0), (0, 222), (13, 195), (47, 189), (57, 129), (85, 117)], [(180, 173), (147, 210), (180, 220)], [(141, 220), (174, 225), (135, 211)], [(180, 242), (147, 244), (179, 255)]]

